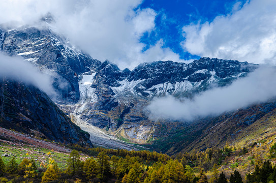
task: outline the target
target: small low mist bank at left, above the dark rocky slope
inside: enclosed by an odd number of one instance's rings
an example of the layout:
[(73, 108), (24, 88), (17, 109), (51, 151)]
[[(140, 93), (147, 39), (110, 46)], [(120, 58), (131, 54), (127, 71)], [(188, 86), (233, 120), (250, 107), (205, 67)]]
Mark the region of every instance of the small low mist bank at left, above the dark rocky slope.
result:
[(51, 78), (42, 74), (22, 57), (11, 57), (0, 52), (0, 78), (13, 79), (32, 84), (43, 90), (48, 96), (55, 97)]

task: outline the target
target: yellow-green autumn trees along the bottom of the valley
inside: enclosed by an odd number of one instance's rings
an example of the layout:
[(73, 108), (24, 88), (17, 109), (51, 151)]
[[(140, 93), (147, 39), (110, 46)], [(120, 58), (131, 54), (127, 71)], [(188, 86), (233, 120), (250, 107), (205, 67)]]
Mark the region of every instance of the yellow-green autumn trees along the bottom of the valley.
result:
[[(218, 171), (234, 150), (226, 146), (170, 157), (155, 151), (98, 147), (90, 149), (95, 157), (81, 160), (79, 152), (74, 149), (63, 170), (51, 158), (47, 166), (38, 168), (35, 160), (23, 159), (17, 164), (13, 157), (5, 164), (0, 157), (0, 182), (243, 183), (237, 170), (229, 180), (224, 172)], [(239, 150), (239, 155), (246, 153), (245, 147)], [(211, 178), (206, 176), (208, 170), (212, 172)], [(272, 167), (269, 161), (258, 163), (246, 179), (250, 183), (273, 183), (276, 181), (276, 167)]]

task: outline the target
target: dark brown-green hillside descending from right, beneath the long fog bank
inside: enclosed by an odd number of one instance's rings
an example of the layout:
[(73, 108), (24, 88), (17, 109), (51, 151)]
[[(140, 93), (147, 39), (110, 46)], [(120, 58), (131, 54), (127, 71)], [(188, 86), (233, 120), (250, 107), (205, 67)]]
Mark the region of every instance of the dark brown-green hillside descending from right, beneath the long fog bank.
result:
[[(171, 128), (171, 126), (176, 126)], [(275, 103), (254, 105), (218, 117), (198, 120), (190, 125), (161, 124), (159, 133), (150, 145), (152, 149), (173, 155), (180, 151), (222, 148), (229, 144), (246, 145), (257, 141), (267, 132), (276, 132)]]

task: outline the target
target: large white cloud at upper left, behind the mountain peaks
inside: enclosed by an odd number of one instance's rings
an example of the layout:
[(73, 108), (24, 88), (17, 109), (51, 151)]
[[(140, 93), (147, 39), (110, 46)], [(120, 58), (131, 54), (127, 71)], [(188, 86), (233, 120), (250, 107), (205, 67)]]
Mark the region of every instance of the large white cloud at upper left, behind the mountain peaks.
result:
[(163, 48), (163, 43), (154, 46), (159, 51), (151, 48), (142, 52), (145, 45), (140, 38), (155, 29), (157, 13), (149, 8), (139, 9), (141, 3), (142, 0), (0, 0), (0, 23), (32, 24), (49, 12), (56, 31), (92, 57), (109, 59), (120, 68), (179, 59), (178, 54)]

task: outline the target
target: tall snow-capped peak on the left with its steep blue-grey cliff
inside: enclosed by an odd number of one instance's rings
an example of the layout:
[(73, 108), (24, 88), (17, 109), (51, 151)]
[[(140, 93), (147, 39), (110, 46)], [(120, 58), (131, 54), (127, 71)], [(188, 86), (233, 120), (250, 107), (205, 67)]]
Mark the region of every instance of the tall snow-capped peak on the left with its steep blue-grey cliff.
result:
[(0, 48), (13, 56), (23, 56), (42, 72), (53, 78), (60, 94), (59, 102), (75, 103), (79, 100), (78, 75), (97, 67), (100, 62), (74, 48), (63, 37), (49, 28), (0, 28)]

